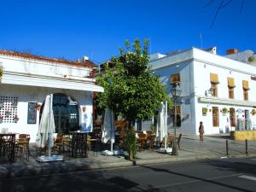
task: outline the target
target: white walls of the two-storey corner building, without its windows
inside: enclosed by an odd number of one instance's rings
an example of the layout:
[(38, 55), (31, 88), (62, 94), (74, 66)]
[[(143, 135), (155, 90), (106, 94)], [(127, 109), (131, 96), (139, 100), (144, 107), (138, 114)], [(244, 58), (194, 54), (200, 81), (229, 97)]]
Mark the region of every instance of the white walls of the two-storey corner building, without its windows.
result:
[[(256, 101), (256, 81), (251, 77), (256, 77), (256, 67), (234, 61), (220, 55), (214, 55), (203, 51), (201, 49), (189, 49), (183, 53), (166, 56), (156, 61), (149, 63), (154, 70), (155, 74), (159, 74), (161, 82), (167, 85), (167, 93), (170, 95), (170, 76), (173, 73), (180, 73), (181, 75), (181, 88), (183, 90), (182, 96), (184, 99), (189, 99), (190, 103), (182, 105), (183, 117), (189, 113), (189, 119), (182, 123), (181, 131), (198, 135), (198, 127), (200, 121), (205, 125), (206, 134), (215, 134), (225, 132), (226, 127), (229, 130), (235, 130), (235, 127), (230, 127), (230, 113), (226, 116), (220, 113), (222, 108), (235, 108), (242, 113), (236, 113), (237, 118), (244, 119), (244, 110), (253, 109), (253, 103)], [(199, 102), (201, 97), (206, 97), (205, 92), (211, 88), (210, 73), (218, 74), (218, 97), (227, 101), (226, 104), (218, 102)], [(243, 103), (243, 105), (230, 104), (228, 81), (227, 78), (234, 78), (236, 88), (234, 91), (235, 100)], [(242, 80), (247, 80), (250, 90), (248, 91), (249, 101), (243, 101)], [(171, 96), (171, 95), (170, 95)], [(252, 103), (248, 106), (248, 103)], [(247, 104), (245, 107), (244, 104)], [(212, 107), (218, 107), (219, 113), (219, 126), (212, 126)], [(207, 116), (202, 115), (202, 108), (208, 108)], [(209, 110), (211, 109), (211, 110)], [(250, 113), (250, 119), (253, 120), (253, 126), (256, 127), (256, 115)]]

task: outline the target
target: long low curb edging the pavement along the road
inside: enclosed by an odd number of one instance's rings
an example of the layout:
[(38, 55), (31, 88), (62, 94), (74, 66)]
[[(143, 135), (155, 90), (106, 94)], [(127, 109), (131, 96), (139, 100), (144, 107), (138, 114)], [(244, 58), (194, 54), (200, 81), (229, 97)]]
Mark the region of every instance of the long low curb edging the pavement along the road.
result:
[[(249, 155), (236, 155), (231, 158), (246, 158), (246, 157), (255, 157), (256, 154)], [(127, 167), (127, 166), (143, 166), (143, 165), (154, 165), (168, 162), (181, 162), (181, 161), (195, 161), (195, 160), (214, 160), (220, 159), (220, 156), (217, 155), (194, 155), (194, 156), (176, 156), (171, 158), (166, 156), (166, 158), (154, 158), (150, 160), (124, 160), (121, 162), (51, 162), (51, 163), (41, 163), (34, 165), (7, 165), (0, 166), (0, 179), (3, 178), (14, 178), (14, 177), (30, 177), (30, 176), (39, 176), (39, 175), (49, 175), (56, 173), (65, 173), (65, 172), (83, 172), (89, 170), (98, 170), (98, 169), (107, 169), (107, 168), (116, 168), (116, 167)]]

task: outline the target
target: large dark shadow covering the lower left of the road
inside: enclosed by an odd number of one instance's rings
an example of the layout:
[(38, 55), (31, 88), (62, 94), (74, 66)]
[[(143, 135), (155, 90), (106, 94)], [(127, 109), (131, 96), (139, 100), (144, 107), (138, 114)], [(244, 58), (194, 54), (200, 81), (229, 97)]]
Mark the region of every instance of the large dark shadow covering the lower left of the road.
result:
[[(52, 165), (58, 170), (61, 164)], [(68, 167), (67, 167), (68, 168)], [(84, 167), (85, 169), (86, 167)], [(88, 167), (87, 167), (88, 168)], [(125, 177), (112, 176), (107, 171), (84, 171), (59, 173), (47, 172), (44, 175), (29, 177), (0, 178), (1, 192), (76, 192), (76, 191), (104, 191), (104, 192), (158, 192), (148, 184), (141, 186), (140, 183), (131, 181)], [(163, 191), (163, 190), (161, 190)]]

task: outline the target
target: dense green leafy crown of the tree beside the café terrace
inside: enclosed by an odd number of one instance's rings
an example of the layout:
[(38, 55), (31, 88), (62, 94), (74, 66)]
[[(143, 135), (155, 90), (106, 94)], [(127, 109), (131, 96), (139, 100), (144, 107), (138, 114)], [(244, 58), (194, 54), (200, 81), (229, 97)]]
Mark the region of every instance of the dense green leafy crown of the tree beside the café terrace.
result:
[(104, 73), (96, 79), (104, 88), (104, 93), (97, 95), (97, 107), (108, 106), (130, 122), (152, 117), (167, 96), (166, 86), (160, 84), (159, 76), (152, 75), (148, 61), (148, 40), (144, 40), (142, 49), (136, 39), (132, 51), (126, 41), (125, 50), (120, 49), (120, 55), (108, 61)]

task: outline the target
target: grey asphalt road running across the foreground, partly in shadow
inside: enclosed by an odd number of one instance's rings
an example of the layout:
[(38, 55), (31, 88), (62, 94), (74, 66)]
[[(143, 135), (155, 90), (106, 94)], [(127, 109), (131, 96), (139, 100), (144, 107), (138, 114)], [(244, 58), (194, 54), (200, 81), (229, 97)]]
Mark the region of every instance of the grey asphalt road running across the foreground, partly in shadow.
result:
[(0, 180), (1, 192), (256, 191), (256, 158), (131, 166)]

